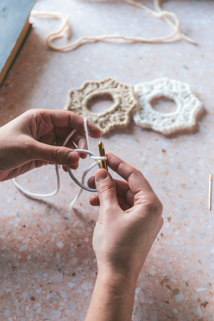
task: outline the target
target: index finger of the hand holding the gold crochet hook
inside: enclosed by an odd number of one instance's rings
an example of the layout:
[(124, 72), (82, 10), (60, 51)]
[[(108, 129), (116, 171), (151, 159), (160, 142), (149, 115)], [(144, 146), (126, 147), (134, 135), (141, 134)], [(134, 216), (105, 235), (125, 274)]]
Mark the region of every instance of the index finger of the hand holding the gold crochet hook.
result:
[[(108, 166), (124, 178), (129, 183), (129, 187), (134, 194), (140, 191), (153, 192), (149, 182), (140, 172), (140, 170), (134, 168), (133, 166), (125, 163), (119, 157), (112, 153), (106, 153)], [(154, 193), (154, 192), (153, 192)]]

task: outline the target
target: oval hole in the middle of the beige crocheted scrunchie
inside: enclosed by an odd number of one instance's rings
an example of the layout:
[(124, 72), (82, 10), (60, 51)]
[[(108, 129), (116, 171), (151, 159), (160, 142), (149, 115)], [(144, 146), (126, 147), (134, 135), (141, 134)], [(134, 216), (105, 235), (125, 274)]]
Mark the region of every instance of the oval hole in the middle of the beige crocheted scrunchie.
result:
[(113, 97), (109, 93), (103, 93), (88, 100), (87, 108), (94, 113), (102, 113), (106, 109), (110, 108), (113, 103)]

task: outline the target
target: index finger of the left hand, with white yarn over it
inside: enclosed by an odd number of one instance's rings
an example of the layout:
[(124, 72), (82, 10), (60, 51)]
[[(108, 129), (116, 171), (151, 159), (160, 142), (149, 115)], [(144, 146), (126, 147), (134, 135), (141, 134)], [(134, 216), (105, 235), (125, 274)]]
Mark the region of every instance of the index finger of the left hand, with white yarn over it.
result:
[[(51, 122), (56, 127), (70, 127), (85, 133), (84, 118), (69, 110), (45, 110), (47, 117), (50, 117)], [(90, 120), (87, 120), (89, 135), (93, 138), (100, 138), (102, 131), (95, 126)]]

